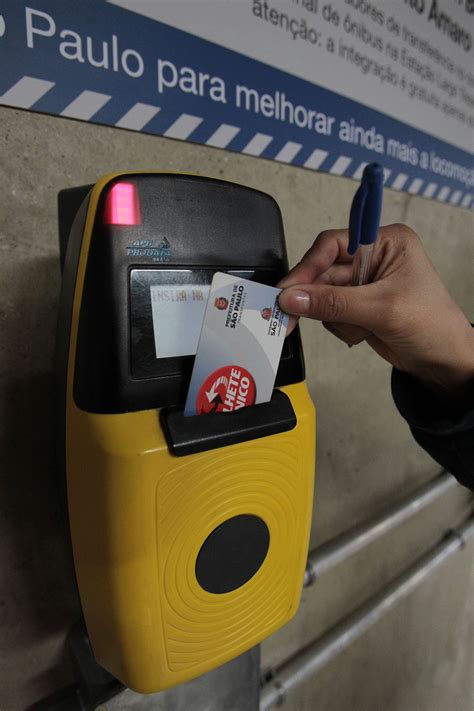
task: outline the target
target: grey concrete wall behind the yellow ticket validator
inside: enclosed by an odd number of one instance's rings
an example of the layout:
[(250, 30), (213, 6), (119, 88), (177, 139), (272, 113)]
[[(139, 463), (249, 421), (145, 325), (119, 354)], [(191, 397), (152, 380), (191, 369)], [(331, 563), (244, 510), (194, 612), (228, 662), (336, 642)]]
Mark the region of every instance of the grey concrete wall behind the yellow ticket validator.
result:
[[(79, 609), (54, 471), (58, 190), (130, 169), (235, 180), (276, 198), (294, 264), (320, 230), (346, 224), (355, 183), (12, 109), (1, 109), (0, 121), (0, 708), (19, 711), (70, 681), (65, 634)], [(451, 293), (474, 319), (472, 213), (387, 190), (383, 223), (395, 221), (420, 233)], [(305, 323), (303, 338), (318, 408), (315, 546), (439, 468), (395, 410), (388, 365), (365, 344), (349, 350), (319, 324)], [(453, 490), (321, 578), (304, 592), (296, 618), (263, 644), (263, 666), (280, 663), (380, 589), (462, 520), (469, 502), (466, 490)], [(302, 687), (285, 711), (470, 711), (473, 585), (471, 544)]]

